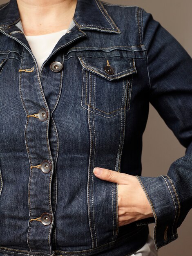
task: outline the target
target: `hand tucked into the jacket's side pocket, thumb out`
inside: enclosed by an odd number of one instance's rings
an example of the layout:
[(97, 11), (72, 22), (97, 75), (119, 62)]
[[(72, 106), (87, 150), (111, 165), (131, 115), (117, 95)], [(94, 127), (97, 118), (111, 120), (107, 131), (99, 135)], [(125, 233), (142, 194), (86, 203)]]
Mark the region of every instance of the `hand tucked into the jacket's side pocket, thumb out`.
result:
[[(98, 171), (101, 173), (99, 174)], [(99, 167), (94, 168), (94, 175), (101, 180), (118, 183), (119, 227), (154, 216), (151, 205), (136, 176)]]

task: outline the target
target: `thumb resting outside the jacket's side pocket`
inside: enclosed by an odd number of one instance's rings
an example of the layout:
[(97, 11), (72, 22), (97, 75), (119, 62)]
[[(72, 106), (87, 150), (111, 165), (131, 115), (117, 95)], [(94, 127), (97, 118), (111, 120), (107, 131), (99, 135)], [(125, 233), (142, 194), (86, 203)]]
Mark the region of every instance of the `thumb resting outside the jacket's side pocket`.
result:
[(121, 182), (123, 182), (123, 179), (125, 178), (123, 173), (119, 173), (117, 171), (112, 171), (105, 168), (95, 167), (93, 172), (94, 175), (96, 175), (96, 177), (101, 180), (107, 180), (118, 184), (121, 184)]

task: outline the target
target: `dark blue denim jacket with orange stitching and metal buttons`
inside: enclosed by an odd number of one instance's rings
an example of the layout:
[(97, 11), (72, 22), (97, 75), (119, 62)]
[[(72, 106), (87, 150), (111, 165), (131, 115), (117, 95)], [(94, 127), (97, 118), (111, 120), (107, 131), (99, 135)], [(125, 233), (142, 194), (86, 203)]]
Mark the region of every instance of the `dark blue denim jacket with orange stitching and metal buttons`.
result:
[[(141, 176), (149, 103), (186, 148), (158, 177)], [(118, 227), (118, 184), (96, 166), (136, 175), (154, 217)], [(191, 207), (192, 58), (179, 42), (140, 7), (78, 0), (39, 72), (16, 0), (3, 4), (0, 255), (125, 256), (153, 222), (159, 249)]]

